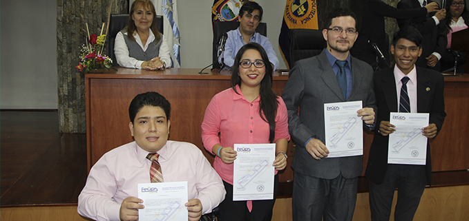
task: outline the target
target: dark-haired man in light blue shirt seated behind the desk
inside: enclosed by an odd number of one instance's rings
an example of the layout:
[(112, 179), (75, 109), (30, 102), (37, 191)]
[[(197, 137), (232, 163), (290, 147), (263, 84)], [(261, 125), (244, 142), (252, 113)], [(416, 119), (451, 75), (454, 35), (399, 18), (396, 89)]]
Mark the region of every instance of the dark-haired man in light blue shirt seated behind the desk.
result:
[(262, 20), (262, 7), (260, 7), (258, 3), (247, 1), (241, 6), (239, 14), (240, 27), (227, 32), (228, 39), (227, 43), (224, 45), (225, 50), (222, 56), (218, 57), (218, 63), (222, 63), (223, 57), (224, 64), (233, 67), (234, 58), (236, 54), (238, 54), (238, 50), (240, 50), (243, 45), (252, 41), (260, 44), (262, 48), (264, 48), (274, 70), (278, 70), (279, 62), (274, 52), (274, 47), (272, 47), (272, 44), (266, 36), (262, 36), (256, 32), (260, 20)]

